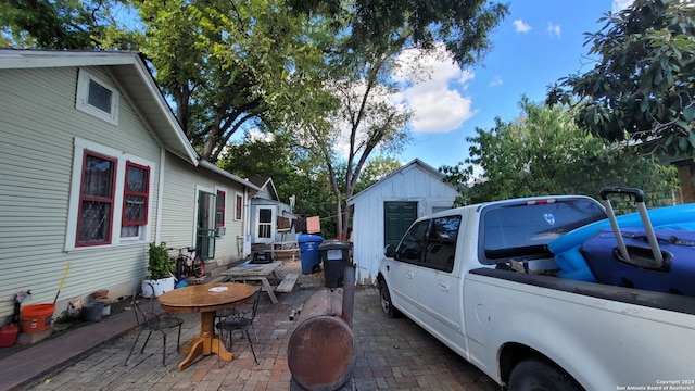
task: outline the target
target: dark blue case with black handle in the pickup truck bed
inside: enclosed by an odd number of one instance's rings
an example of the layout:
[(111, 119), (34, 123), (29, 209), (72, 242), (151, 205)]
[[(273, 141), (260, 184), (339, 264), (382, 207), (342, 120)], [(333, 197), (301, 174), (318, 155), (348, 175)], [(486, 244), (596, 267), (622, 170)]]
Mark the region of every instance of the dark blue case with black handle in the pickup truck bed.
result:
[(695, 231), (654, 229), (655, 256), (644, 228), (623, 228), (628, 258), (612, 229), (602, 229), (580, 249), (597, 282), (695, 297)]

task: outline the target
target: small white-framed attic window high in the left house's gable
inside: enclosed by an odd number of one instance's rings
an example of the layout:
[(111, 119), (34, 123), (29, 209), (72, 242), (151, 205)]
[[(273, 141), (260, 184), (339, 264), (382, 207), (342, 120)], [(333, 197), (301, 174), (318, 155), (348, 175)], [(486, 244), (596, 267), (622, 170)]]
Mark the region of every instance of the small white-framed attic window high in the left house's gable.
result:
[(118, 91), (106, 81), (79, 70), (76, 109), (108, 123), (118, 124)]

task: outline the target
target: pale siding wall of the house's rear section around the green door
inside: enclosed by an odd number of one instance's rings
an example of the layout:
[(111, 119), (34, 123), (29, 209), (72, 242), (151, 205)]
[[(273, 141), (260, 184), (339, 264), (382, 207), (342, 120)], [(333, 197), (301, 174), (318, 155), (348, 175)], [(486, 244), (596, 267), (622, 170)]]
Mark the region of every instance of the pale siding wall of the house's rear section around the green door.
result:
[(195, 245), (197, 191), (200, 188), (214, 193), (217, 188), (224, 188), (227, 191), (227, 232), (215, 239), (215, 258), (207, 262), (226, 264), (240, 260), (242, 253), (237, 238), (242, 238), (244, 220), (233, 219), (233, 202), (237, 192), (243, 193), (241, 185), (208, 169), (192, 167), (170, 153), (167, 153), (164, 172), (161, 241), (174, 248)]

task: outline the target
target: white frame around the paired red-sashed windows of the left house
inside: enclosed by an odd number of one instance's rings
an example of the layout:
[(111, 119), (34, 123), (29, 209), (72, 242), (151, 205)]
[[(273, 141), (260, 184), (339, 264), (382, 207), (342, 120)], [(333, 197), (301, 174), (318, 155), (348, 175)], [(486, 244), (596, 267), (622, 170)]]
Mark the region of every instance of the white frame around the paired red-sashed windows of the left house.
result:
[[(124, 244), (140, 244), (150, 241), (150, 231), (155, 218), (152, 216), (154, 211), (152, 210), (153, 195), (150, 192), (148, 197), (148, 224), (140, 226), (139, 237), (121, 237), (121, 226), (123, 225), (123, 198), (125, 191), (125, 178), (126, 178), (126, 163), (128, 161), (137, 163), (141, 166), (150, 167), (150, 185), (149, 189), (154, 189), (154, 173), (156, 166), (153, 162), (146, 159), (131, 155), (129, 153), (118, 151), (116, 149), (102, 146), (100, 143), (85, 140), (76, 137), (74, 140), (74, 153), (73, 153), (73, 173), (70, 190), (70, 206), (67, 217), (67, 232), (65, 235), (65, 251), (84, 251), (100, 248), (110, 248)], [(77, 247), (75, 244), (77, 239), (77, 222), (79, 219), (79, 192), (83, 179), (83, 156), (85, 150), (100, 153), (102, 155), (110, 156), (116, 161), (116, 179), (114, 191), (114, 205), (113, 205), (113, 218), (111, 222), (111, 243), (103, 245), (85, 245)]]

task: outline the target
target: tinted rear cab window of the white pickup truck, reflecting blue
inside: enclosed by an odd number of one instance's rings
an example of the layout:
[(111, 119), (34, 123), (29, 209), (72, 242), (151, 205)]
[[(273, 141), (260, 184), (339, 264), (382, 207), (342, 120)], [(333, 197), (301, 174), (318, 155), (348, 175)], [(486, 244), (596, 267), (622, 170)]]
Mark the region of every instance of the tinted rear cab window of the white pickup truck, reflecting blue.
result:
[(606, 218), (592, 199), (548, 199), (493, 205), (482, 212), (480, 261), (552, 257), (547, 243), (583, 225)]

